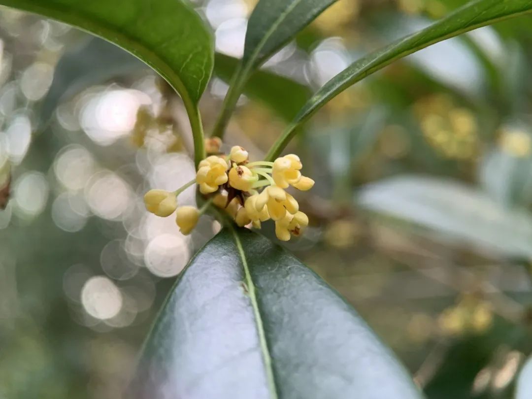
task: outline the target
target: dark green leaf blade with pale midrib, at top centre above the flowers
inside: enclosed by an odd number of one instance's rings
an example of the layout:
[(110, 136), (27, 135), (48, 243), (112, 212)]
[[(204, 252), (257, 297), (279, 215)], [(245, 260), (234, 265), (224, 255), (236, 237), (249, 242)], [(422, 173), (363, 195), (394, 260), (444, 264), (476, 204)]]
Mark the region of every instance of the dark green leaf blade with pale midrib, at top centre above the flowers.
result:
[(337, 0), (261, 0), (247, 24), (243, 69), (254, 69)]

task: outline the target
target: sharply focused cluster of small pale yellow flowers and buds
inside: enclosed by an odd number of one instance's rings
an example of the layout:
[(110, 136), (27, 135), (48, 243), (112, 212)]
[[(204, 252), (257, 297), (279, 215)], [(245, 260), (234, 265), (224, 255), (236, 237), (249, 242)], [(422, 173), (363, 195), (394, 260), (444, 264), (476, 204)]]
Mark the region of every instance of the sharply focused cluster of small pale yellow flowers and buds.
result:
[[(304, 191), (314, 185), (314, 180), (302, 176), (300, 158), (289, 154), (275, 162), (250, 162), (244, 148), (234, 146), (229, 155), (224, 155), (219, 153), (221, 143), (210, 140), (207, 142), (207, 147), (212, 149), (209, 153), (218, 155), (209, 155), (200, 162), (196, 179), (173, 193), (150, 190), (144, 197), (146, 209), (161, 217), (167, 217), (177, 209), (176, 222), (182, 234), (189, 234), (206, 207), (213, 203), (224, 209), (240, 227), (251, 223), (260, 228), (261, 222), (272, 219), (280, 240), (301, 235), (309, 218), (285, 190), (292, 186)], [(178, 207), (177, 195), (194, 182), (209, 200), (200, 210), (192, 206)]]

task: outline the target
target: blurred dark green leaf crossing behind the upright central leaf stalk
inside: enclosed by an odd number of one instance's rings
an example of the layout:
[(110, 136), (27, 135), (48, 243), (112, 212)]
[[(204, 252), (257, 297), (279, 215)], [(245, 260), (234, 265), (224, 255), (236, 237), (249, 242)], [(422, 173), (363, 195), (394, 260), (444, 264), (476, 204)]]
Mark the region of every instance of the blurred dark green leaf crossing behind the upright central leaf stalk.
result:
[[(238, 69), (239, 60), (217, 53), (214, 74), (230, 82)], [(309, 87), (268, 71), (258, 71), (247, 81), (244, 93), (250, 98), (268, 106), (282, 118), (290, 121), (310, 98)]]

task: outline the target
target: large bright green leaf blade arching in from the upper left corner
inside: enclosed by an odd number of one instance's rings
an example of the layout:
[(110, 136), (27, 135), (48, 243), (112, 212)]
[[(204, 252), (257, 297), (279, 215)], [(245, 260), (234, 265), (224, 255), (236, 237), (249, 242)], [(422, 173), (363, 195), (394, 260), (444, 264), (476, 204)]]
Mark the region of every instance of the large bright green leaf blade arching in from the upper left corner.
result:
[(213, 37), (194, 9), (181, 0), (0, 0), (86, 30), (122, 47), (151, 66), (181, 95), (189, 112), (209, 82)]

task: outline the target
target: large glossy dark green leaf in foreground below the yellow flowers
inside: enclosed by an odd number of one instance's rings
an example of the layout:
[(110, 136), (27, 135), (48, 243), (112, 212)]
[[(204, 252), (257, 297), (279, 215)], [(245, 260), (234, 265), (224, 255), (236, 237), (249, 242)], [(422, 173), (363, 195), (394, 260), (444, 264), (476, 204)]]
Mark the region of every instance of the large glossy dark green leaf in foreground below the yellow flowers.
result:
[(181, 275), (145, 344), (131, 396), (421, 397), (342, 297), (245, 229), (223, 230)]

